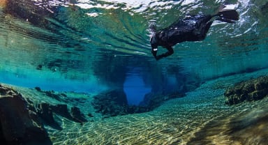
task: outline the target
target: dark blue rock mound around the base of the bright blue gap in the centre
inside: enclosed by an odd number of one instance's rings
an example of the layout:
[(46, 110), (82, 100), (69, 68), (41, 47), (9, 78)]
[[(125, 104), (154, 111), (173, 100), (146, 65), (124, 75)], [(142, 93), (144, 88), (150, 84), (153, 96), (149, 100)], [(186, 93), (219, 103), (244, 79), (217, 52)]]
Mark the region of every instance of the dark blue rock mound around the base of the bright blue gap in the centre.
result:
[[(126, 94), (123, 90), (117, 89), (105, 91), (97, 96), (94, 96), (92, 105), (97, 113), (103, 116), (118, 116), (126, 114), (137, 114), (149, 112), (156, 107), (159, 107), (165, 100), (172, 98), (180, 98), (185, 96), (184, 93), (170, 93), (163, 96), (162, 94), (148, 93), (145, 95), (145, 100), (139, 106), (128, 105)], [(147, 100), (146, 100), (147, 99)]]

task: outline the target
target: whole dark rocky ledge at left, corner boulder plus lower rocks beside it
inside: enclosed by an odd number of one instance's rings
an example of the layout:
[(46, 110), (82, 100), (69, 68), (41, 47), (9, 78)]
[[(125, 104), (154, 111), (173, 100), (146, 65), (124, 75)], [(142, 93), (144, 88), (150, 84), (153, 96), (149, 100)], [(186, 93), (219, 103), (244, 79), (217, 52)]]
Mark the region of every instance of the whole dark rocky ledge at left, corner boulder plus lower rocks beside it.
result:
[(73, 106), (69, 109), (66, 104), (33, 102), (14, 89), (0, 84), (1, 144), (52, 144), (44, 126), (49, 125), (61, 130), (59, 116), (76, 123), (87, 122), (78, 107)]

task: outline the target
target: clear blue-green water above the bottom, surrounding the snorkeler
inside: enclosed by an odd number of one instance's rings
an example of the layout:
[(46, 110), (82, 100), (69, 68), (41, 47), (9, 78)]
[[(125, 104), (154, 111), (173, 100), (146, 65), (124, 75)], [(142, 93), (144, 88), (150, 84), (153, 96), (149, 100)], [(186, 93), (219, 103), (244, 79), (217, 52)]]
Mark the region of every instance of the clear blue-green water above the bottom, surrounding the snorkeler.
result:
[[(237, 9), (237, 23), (215, 21), (205, 40), (178, 44), (172, 56), (154, 59), (151, 25), (163, 29), (184, 15), (216, 13), (222, 3)], [(91, 96), (119, 88), (129, 105), (139, 105), (147, 93), (189, 93), (214, 79), (268, 67), (267, 3), (4, 0), (0, 82)], [(222, 87), (237, 82), (230, 80)]]

